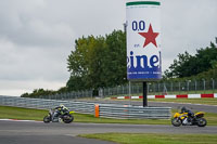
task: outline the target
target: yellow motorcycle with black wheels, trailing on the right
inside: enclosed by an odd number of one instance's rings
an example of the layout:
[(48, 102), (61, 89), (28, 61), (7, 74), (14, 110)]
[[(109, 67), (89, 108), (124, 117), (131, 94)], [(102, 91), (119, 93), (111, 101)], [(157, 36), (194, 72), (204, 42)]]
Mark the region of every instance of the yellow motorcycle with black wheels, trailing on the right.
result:
[(203, 118), (205, 113), (199, 112), (196, 114), (190, 115), (189, 113), (176, 113), (171, 119), (171, 123), (175, 127), (182, 126), (199, 126), (205, 127), (207, 121)]

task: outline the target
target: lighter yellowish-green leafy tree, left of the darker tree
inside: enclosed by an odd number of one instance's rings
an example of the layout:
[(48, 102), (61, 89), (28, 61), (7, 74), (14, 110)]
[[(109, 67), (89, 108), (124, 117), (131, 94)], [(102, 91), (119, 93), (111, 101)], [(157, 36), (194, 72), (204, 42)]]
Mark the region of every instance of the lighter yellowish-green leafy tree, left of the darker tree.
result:
[(68, 90), (84, 90), (99, 86), (104, 49), (103, 37), (90, 36), (76, 40), (75, 51), (72, 51), (67, 60), (71, 71), (66, 84)]

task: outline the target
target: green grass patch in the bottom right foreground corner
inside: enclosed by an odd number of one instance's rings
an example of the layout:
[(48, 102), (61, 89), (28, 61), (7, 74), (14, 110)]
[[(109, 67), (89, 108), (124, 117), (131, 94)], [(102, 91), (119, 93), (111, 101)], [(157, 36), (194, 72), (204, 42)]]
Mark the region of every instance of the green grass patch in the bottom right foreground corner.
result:
[(88, 139), (119, 144), (216, 144), (217, 134), (97, 133), (80, 134)]

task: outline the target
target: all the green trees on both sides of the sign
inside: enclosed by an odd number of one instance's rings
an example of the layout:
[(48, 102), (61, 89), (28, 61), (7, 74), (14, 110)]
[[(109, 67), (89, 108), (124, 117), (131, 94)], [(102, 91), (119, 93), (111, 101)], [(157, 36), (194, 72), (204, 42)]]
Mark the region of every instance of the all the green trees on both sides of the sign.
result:
[[(127, 82), (126, 34), (114, 30), (106, 36), (88, 36), (75, 40), (75, 48), (67, 57), (71, 77), (66, 87), (58, 91), (36, 89), (24, 93), (24, 97), (36, 97), (69, 91), (98, 90), (122, 86)], [(217, 78), (217, 47), (196, 50), (195, 55), (187, 51), (178, 54), (164, 71), (164, 80)]]

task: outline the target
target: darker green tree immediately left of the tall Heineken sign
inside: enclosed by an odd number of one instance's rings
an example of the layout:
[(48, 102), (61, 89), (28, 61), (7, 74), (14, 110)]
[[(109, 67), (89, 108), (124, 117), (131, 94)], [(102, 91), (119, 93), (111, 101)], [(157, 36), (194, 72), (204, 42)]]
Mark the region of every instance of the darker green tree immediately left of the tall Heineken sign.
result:
[(126, 34), (118, 30), (106, 36), (106, 55), (104, 58), (103, 80), (105, 87), (127, 82)]

